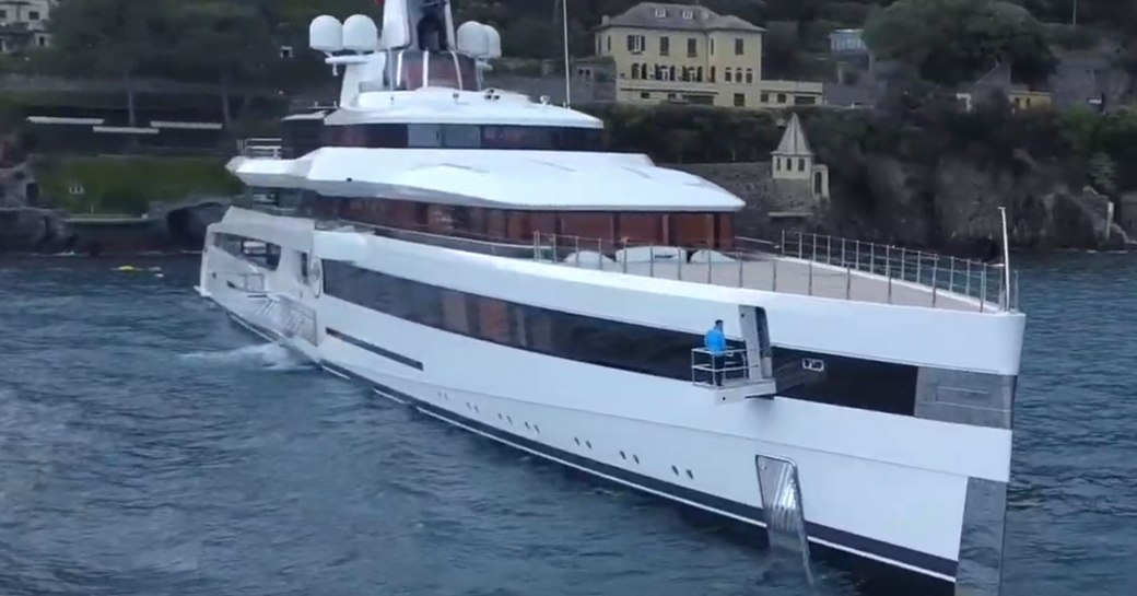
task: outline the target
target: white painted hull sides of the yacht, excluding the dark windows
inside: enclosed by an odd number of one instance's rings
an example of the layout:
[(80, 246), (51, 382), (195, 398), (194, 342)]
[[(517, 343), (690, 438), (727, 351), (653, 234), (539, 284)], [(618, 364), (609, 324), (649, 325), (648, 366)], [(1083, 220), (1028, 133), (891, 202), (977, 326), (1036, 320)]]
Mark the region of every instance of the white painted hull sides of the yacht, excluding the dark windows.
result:
[[(971, 485), (1005, 487), (1010, 475), (1006, 428), (781, 397), (719, 405), (690, 382), (515, 349), (326, 296), (298, 280), (296, 259), (297, 251), (343, 258), (355, 250), (356, 265), (371, 271), (566, 312), (607, 311), (617, 321), (663, 317), (661, 326), (692, 332), (715, 318), (737, 318), (739, 304), (756, 304), (766, 309), (780, 345), (1002, 375), (1018, 373), (1022, 323), (1014, 317), (629, 282), (614, 273), (377, 237), (335, 248), (327, 238), (314, 238), (324, 232), (312, 222), (241, 209), (231, 209), (217, 230), (275, 242), (282, 258), (276, 271), (264, 272), (207, 246), (201, 293), (255, 332), (279, 339), (272, 321), (258, 321), (247, 292), (232, 283), (234, 273), (263, 273), (271, 291), (314, 309), (316, 343), (287, 341), (332, 373), (512, 447), (755, 525), (764, 524), (755, 457), (790, 460), (814, 545), (951, 585), (961, 568)], [(997, 523), (1002, 519), (1001, 511)]]

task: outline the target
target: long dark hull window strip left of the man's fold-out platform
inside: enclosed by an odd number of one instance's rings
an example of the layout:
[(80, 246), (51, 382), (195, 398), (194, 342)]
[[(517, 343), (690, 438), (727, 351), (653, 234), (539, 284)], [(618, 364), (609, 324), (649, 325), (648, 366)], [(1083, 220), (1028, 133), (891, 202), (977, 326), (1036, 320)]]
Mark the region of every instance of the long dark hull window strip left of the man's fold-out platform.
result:
[(703, 337), (574, 315), (324, 262), (324, 293), (405, 321), (501, 346), (690, 380)]

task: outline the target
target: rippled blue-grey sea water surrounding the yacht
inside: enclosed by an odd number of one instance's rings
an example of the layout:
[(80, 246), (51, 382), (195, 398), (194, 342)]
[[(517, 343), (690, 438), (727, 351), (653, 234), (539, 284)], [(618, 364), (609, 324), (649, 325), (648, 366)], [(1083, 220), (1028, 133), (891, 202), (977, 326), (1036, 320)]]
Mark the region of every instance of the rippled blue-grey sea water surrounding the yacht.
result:
[[(118, 264), (0, 263), (0, 595), (810, 591), (679, 507), (257, 342), (196, 260)], [(1005, 593), (1132, 594), (1137, 256), (1024, 266)]]

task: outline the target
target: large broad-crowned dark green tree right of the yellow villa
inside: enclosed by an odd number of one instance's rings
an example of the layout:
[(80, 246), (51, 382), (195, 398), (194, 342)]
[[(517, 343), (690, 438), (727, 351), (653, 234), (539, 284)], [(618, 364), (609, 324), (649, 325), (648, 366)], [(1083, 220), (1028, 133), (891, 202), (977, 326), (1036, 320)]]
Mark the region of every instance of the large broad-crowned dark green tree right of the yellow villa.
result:
[(1043, 26), (1021, 6), (993, 0), (898, 0), (865, 24), (865, 42), (879, 58), (919, 68), (940, 84), (974, 81), (996, 63), (1038, 82), (1055, 59)]

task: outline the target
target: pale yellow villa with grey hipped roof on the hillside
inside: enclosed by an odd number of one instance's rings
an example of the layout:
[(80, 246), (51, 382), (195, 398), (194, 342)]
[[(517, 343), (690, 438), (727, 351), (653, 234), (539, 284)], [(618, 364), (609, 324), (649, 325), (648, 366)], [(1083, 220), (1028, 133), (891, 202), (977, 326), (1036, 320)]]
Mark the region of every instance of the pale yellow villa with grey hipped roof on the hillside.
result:
[(762, 78), (764, 28), (699, 6), (642, 2), (596, 30), (616, 101), (778, 108), (821, 104), (821, 83)]

